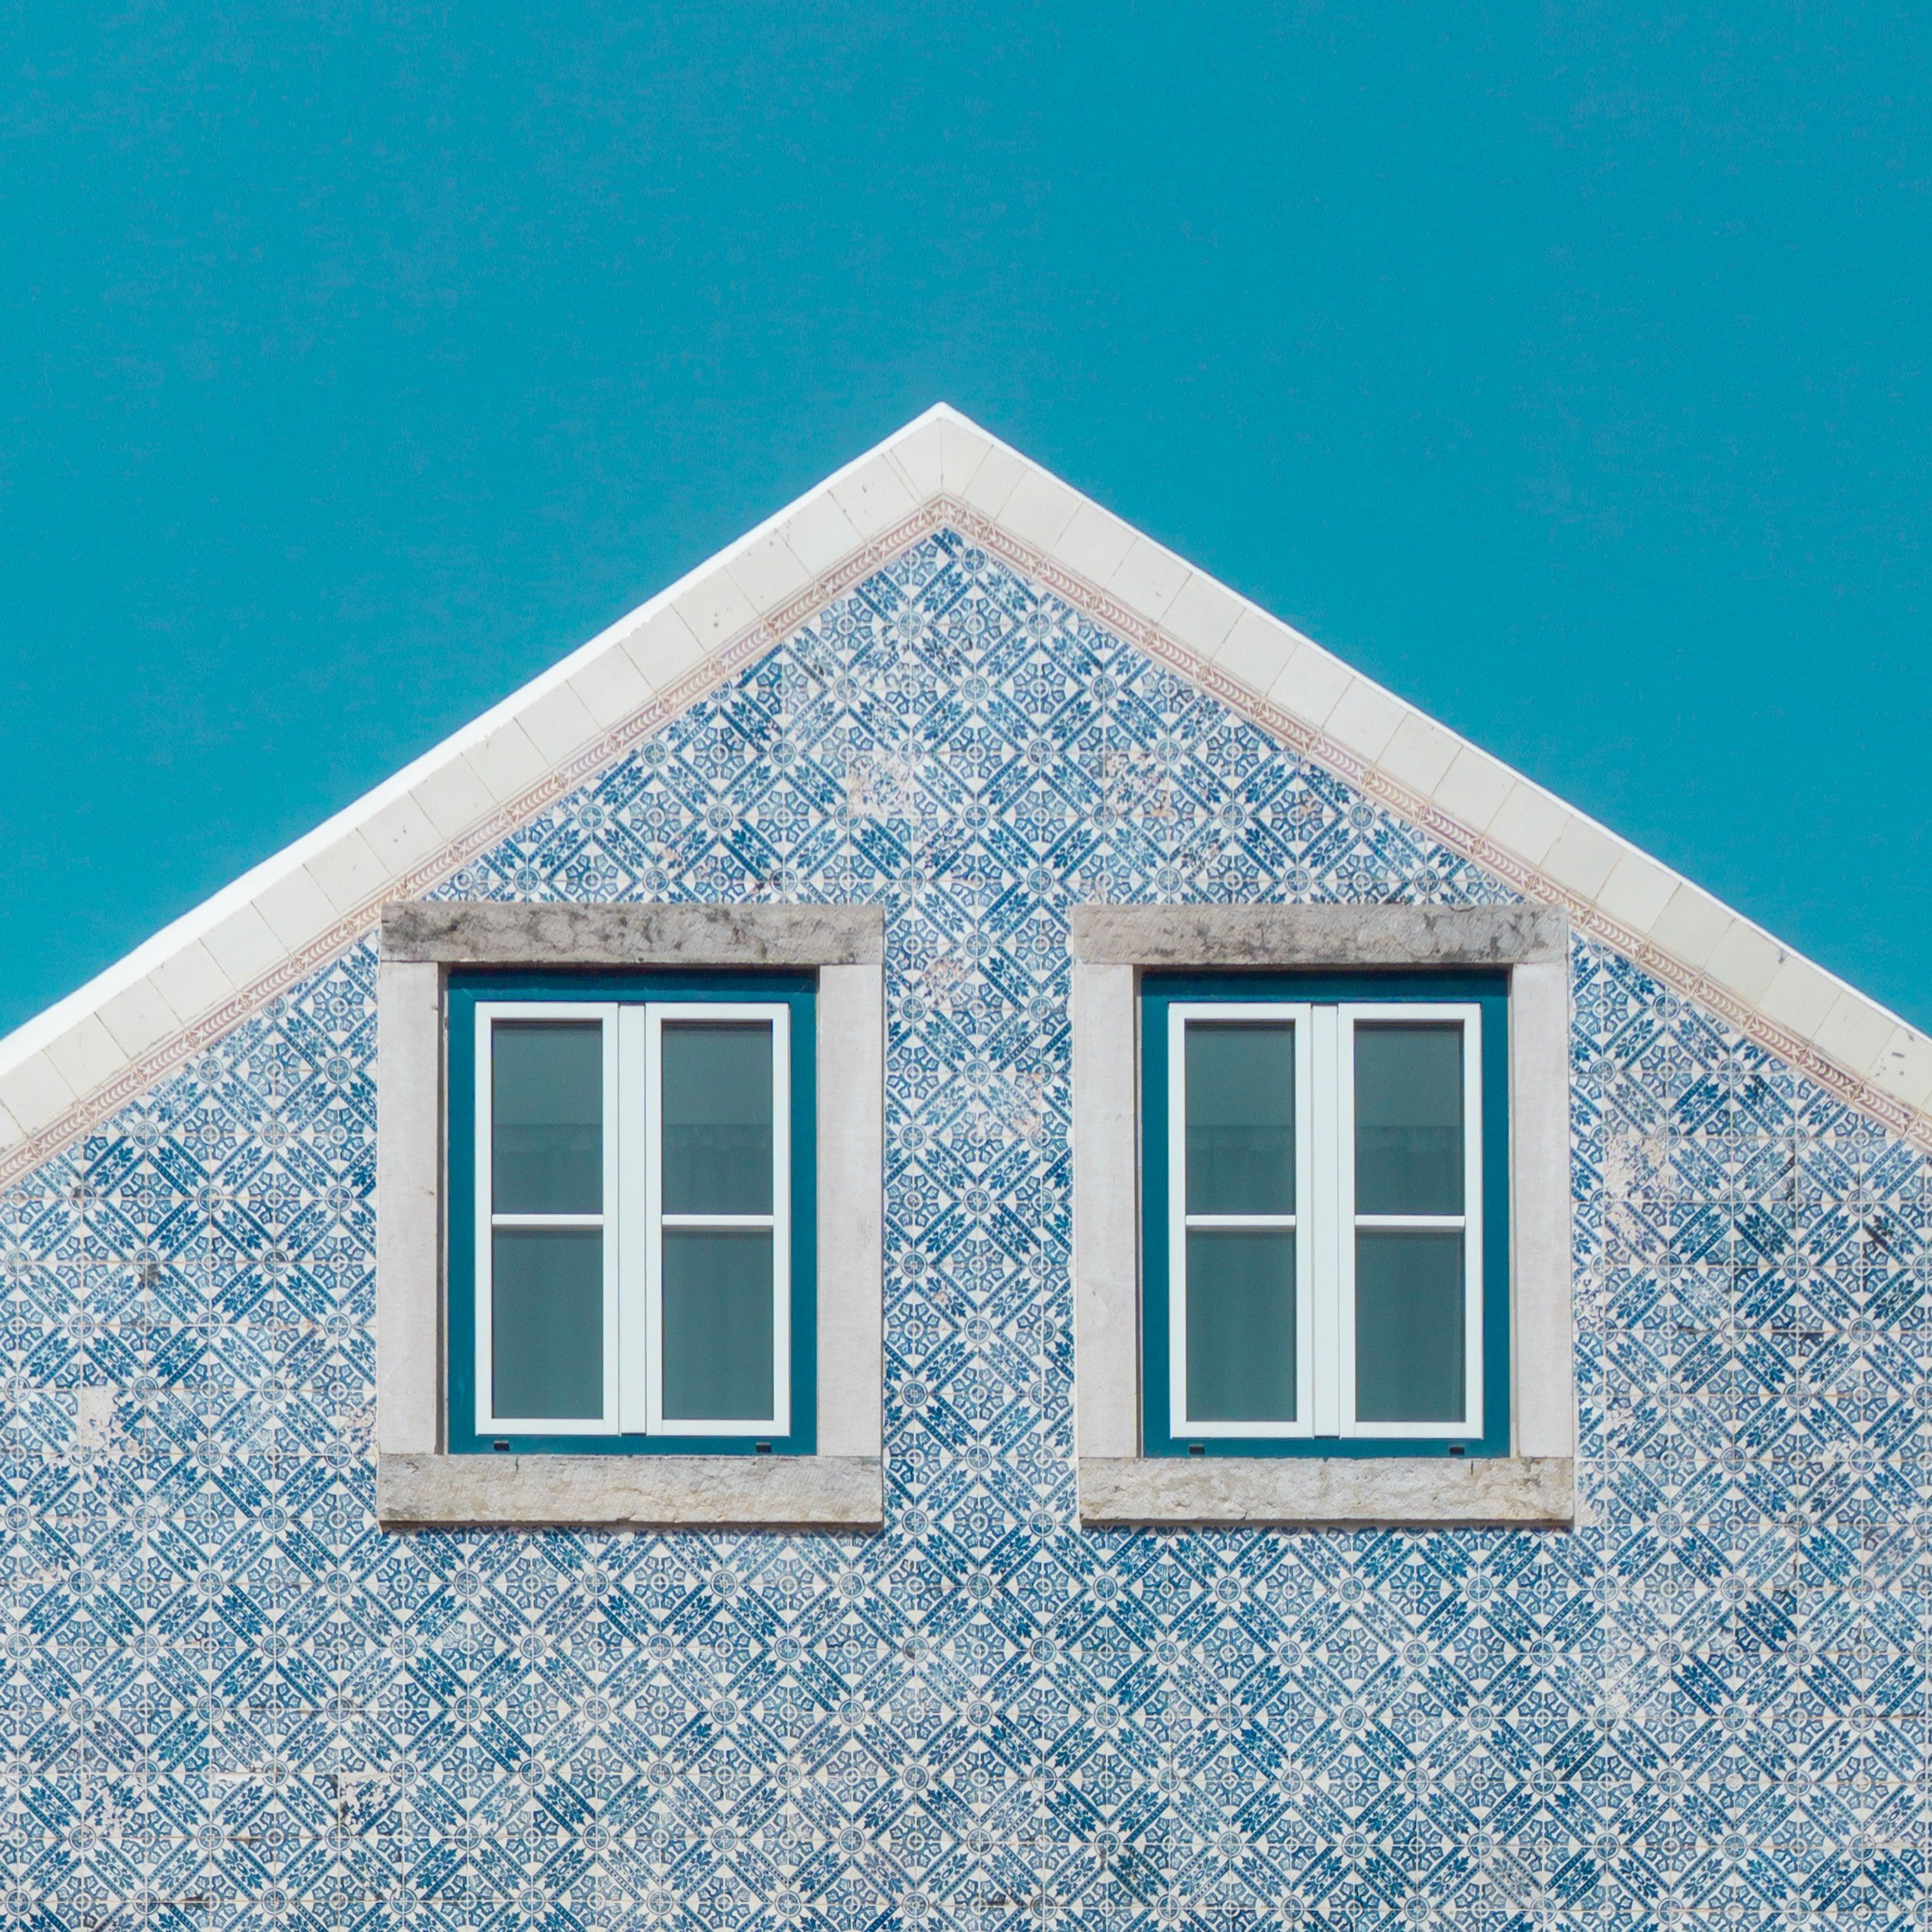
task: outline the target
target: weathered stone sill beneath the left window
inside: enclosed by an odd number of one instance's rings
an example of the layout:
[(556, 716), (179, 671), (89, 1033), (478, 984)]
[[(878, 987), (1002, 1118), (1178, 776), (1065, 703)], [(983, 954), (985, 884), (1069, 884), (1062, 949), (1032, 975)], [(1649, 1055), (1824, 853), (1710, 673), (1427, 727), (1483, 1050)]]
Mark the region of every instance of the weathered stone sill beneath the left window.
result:
[(377, 1459), (384, 1530), (879, 1530), (879, 1457), (429, 1455)]

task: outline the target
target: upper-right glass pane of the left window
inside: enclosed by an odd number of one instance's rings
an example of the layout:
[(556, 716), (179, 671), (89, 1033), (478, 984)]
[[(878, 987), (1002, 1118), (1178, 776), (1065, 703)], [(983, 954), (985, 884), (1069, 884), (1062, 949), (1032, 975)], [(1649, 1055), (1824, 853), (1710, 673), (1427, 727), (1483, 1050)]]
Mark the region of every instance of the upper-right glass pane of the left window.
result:
[(771, 1213), (771, 1022), (667, 1022), (663, 1053), (665, 1213)]

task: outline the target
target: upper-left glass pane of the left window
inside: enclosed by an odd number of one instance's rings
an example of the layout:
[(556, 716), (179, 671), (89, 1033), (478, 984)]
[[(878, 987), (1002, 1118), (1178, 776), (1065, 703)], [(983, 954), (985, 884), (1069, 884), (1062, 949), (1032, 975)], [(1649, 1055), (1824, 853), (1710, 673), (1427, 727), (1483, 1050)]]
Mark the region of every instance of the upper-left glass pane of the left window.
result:
[(491, 1159), (497, 1213), (603, 1211), (603, 1026), (491, 1028)]

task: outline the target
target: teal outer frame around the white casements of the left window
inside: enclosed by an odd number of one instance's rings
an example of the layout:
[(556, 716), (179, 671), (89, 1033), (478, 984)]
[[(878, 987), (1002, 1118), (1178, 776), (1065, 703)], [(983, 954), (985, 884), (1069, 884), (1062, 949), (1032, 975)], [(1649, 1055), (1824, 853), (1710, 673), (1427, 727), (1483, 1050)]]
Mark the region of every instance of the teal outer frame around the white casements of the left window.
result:
[[(477, 1009), (782, 1005), (788, 1018), (790, 1428), (748, 1434), (483, 1434), (477, 1430)], [(817, 1449), (817, 976), (810, 972), (452, 970), (446, 989), (444, 1430), (450, 1455), (813, 1455)], [(605, 1204), (616, 1213), (616, 1204)]]

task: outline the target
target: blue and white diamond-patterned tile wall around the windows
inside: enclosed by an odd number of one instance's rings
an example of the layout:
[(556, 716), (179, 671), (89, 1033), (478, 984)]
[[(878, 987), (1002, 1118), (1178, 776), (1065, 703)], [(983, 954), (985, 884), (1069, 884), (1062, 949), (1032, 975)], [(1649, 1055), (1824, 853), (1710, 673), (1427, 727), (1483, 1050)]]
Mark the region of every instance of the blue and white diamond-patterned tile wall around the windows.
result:
[(0, 1202), (33, 1928), (1932, 1924), (1926, 1161), (1575, 956), (1575, 1536), (1082, 1534), (1068, 904), (1499, 900), (941, 533), (450, 881), (889, 914), (889, 1528), (384, 1536), (373, 952)]

